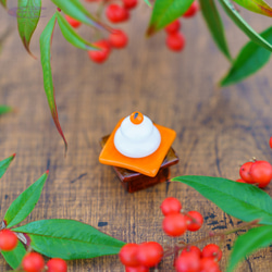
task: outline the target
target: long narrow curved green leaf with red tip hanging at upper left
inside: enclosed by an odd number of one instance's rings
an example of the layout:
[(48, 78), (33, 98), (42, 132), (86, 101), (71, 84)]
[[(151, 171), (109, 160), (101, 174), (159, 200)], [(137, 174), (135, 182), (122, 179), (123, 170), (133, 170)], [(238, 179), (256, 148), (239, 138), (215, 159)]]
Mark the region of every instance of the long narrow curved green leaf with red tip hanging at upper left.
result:
[(44, 72), (44, 88), (47, 95), (47, 100), (49, 108), (51, 110), (52, 119), (54, 121), (55, 127), (59, 131), (64, 145), (65, 145), (65, 151), (67, 150), (67, 143), (64, 137), (64, 134), (62, 132), (59, 116), (58, 116), (58, 110), (57, 110), (57, 104), (54, 100), (54, 86), (53, 86), (53, 78), (52, 78), (52, 71), (51, 71), (51, 63), (50, 63), (50, 47), (51, 47), (51, 41), (52, 41), (52, 35), (53, 35), (53, 29), (54, 25), (57, 22), (57, 14), (54, 14), (50, 21), (48, 22), (46, 28), (40, 35), (39, 38), (39, 44), (40, 44), (40, 61), (41, 61), (41, 66), (42, 66), (42, 72)]

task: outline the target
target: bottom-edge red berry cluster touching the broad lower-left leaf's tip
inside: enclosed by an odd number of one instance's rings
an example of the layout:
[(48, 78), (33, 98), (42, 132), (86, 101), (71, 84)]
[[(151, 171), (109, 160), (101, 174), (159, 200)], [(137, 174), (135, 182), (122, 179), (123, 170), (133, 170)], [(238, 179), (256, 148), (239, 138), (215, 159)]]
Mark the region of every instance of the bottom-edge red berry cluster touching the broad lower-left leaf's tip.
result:
[(119, 257), (126, 272), (148, 272), (161, 261), (163, 248), (157, 242), (131, 243), (122, 247)]

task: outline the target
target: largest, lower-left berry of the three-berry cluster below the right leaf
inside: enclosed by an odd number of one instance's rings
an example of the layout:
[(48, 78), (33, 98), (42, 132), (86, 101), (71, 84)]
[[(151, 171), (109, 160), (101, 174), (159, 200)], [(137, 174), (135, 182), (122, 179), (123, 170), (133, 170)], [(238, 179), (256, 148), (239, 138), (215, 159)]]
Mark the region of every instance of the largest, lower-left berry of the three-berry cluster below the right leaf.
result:
[(170, 236), (183, 235), (187, 230), (186, 218), (181, 213), (169, 214), (162, 221), (162, 230)]

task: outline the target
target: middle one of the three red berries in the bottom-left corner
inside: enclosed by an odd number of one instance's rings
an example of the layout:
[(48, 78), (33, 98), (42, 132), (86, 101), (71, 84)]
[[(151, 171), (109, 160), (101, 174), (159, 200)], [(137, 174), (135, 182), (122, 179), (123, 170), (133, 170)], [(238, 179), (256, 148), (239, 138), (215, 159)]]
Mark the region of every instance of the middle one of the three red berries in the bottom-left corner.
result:
[(45, 261), (41, 255), (29, 252), (23, 258), (22, 267), (26, 272), (41, 272), (45, 268)]

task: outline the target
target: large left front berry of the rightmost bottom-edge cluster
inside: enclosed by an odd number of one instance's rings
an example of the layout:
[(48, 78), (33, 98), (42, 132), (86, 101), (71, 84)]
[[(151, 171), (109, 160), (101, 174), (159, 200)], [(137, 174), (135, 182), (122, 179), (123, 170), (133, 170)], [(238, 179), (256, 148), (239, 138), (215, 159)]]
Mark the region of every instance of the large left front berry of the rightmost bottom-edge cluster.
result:
[(195, 252), (184, 251), (175, 261), (177, 272), (199, 272), (200, 258)]

